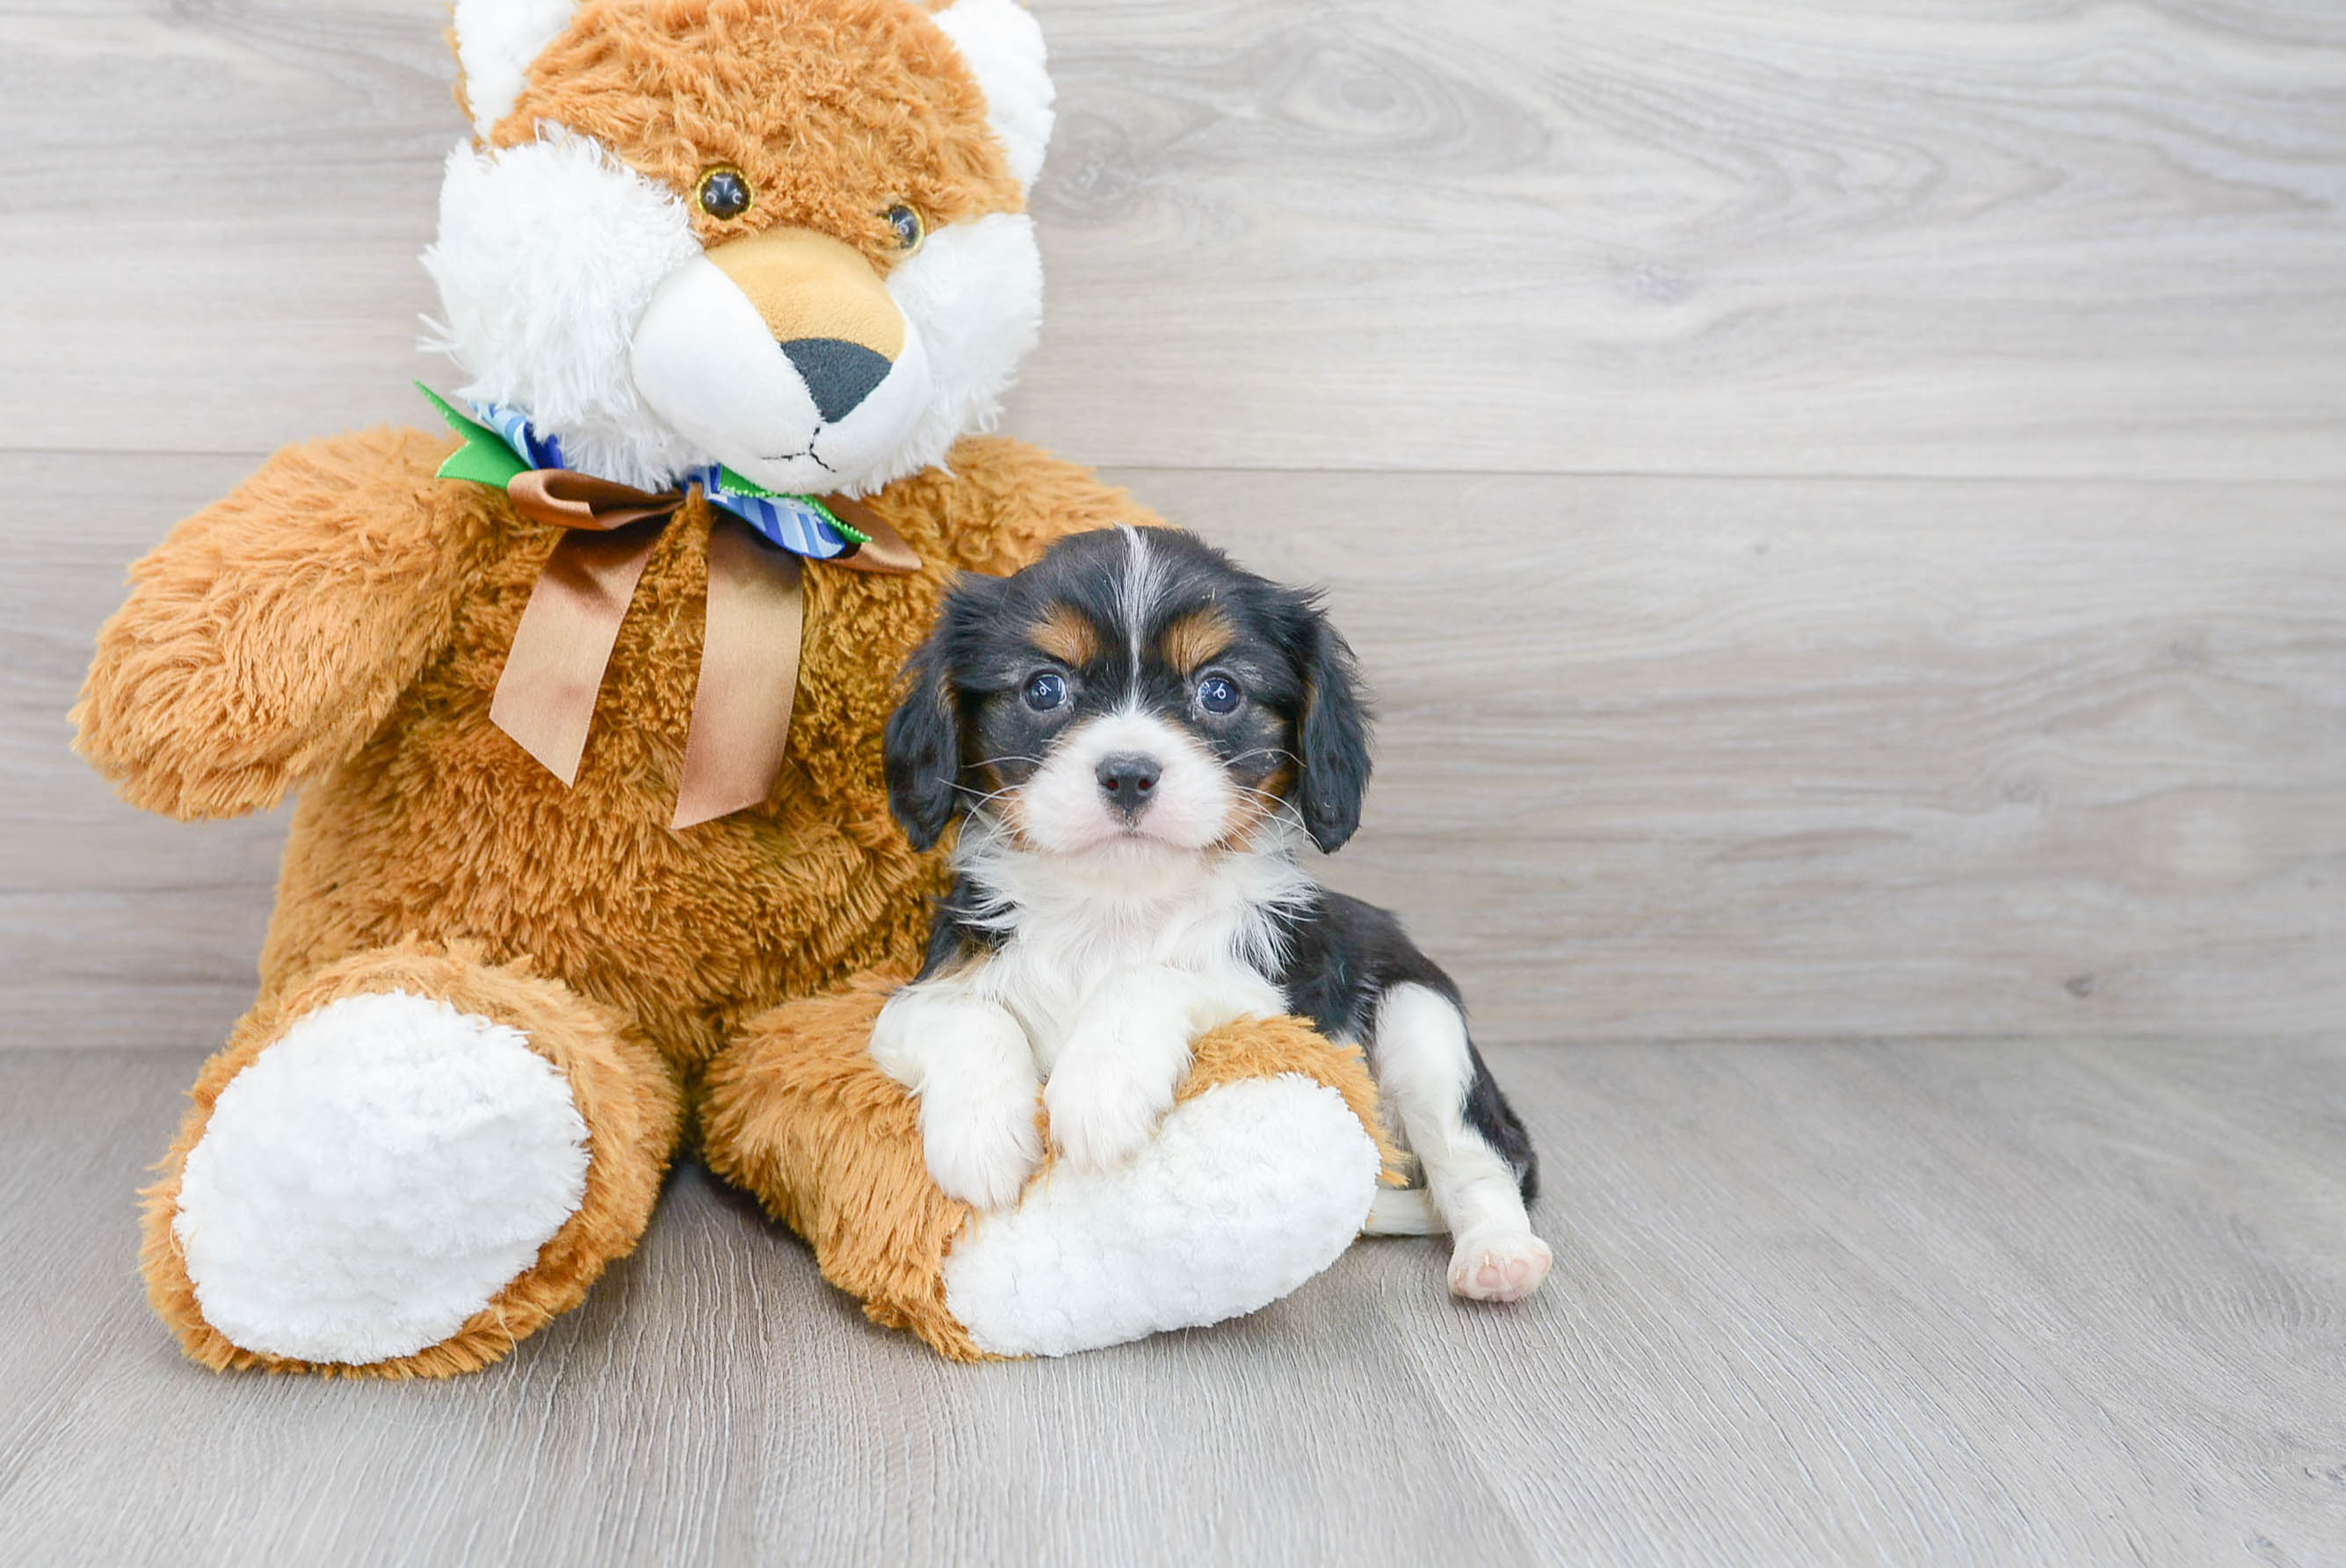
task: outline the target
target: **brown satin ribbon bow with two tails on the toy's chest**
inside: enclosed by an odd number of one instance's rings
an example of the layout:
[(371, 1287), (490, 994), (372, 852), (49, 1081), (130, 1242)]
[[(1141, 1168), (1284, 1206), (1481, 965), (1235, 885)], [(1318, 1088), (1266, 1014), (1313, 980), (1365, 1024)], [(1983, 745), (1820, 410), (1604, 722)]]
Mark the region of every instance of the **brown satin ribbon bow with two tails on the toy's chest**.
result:
[[(690, 492), (633, 490), (570, 469), (533, 469), (504, 492), (521, 516), (551, 523), (563, 534), (514, 628), (488, 717), (570, 785), (586, 755), (603, 670), (636, 581), (659, 530)], [(920, 570), (920, 555), (870, 506), (842, 497), (823, 497), (823, 506), (870, 534), (856, 551), (833, 555), (833, 565), (889, 574)], [(767, 544), (741, 518), (711, 509), (708, 619), (669, 827), (755, 806), (774, 788), (791, 738), (802, 630), (798, 555)]]

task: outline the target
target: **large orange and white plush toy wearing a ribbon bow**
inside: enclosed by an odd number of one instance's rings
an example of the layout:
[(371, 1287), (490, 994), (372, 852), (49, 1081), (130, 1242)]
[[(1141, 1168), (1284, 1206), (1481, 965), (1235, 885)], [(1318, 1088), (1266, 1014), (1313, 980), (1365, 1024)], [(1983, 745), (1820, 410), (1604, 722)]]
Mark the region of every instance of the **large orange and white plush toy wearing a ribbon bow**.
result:
[[(75, 710), (152, 811), (300, 790), (260, 994), (148, 1193), (209, 1366), (483, 1366), (687, 1137), (952, 1357), (1253, 1310), (1379, 1170), (1358, 1062), (1199, 1043), (1159, 1137), (974, 1214), (866, 1057), (934, 855), (880, 731), (955, 572), (1150, 523), (976, 436), (1035, 340), (1011, 0), (455, 0), (432, 434), (289, 448), (131, 572)], [(448, 429), (450, 427), (453, 436)]]

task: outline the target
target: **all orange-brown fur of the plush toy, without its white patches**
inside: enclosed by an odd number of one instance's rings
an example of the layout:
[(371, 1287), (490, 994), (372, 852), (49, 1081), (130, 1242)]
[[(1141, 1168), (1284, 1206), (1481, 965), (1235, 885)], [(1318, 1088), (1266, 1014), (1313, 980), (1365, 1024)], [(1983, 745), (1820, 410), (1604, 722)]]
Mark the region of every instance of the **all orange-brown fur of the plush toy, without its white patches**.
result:
[[(758, 202), (701, 216), (711, 241), (800, 225), (884, 270), (887, 206), (950, 223), (1021, 199), (967, 66), (903, 0), (586, 0), (490, 141), (540, 120), (680, 195), (737, 164)], [(889, 820), (880, 731), (952, 572), (1013, 572), (1065, 532), (1154, 518), (990, 438), (868, 497), (922, 570), (807, 567), (781, 778), (760, 806), (671, 832), (706, 506), (666, 523), (565, 788), (488, 720), (554, 530), (434, 478), (446, 452), (420, 431), (279, 452), (141, 560), (99, 633), (77, 745), (127, 799), (204, 818), (300, 790), (260, 996), (148, 1193), (155, 1310), (206, 1366), (303, 1369), (204, 1322), (171, 1230), (181, 1163), (293, 1020), (406, 989), (518, 1027), (565, 1073), (591, 1137), (586, 1202), (453, 1338), (340, 1371), (467, 1371), (575, 1305), (643, 1233), (704, 1083), (708, 1163), (805, 1233), (875, 1320), (976, 1355), (938, 1273), (967, 1212), (929, 1184), (913, 1102), (863, 1050), (943, 881)], [(1293, 1020), (1201, 1045), (1189, 1092), (1283, 1071), (1335, 1083), (1377, 1130), (1358, 1059)]]

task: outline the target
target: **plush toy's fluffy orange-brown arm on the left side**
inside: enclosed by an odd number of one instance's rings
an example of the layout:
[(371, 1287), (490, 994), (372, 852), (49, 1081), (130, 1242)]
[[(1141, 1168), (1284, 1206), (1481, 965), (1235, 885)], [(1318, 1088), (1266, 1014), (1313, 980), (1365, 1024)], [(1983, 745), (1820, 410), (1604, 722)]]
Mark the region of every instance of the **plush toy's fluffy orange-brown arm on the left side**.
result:
[(493, 527), (441, 436), (270, 457), (138, 565), (99, 630), (75, 750), (136, 806), (239, 816), (354, 755), (448, 635)]

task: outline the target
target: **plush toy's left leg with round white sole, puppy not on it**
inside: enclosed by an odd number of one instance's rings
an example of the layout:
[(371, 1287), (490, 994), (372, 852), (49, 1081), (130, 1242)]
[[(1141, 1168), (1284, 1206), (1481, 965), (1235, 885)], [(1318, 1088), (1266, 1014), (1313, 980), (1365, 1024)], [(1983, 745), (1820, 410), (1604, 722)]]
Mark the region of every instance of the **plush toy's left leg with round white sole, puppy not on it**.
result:
[(683, 1097), (610, 1008), (408, 942), (263, 998), (145, 1193), (148, 1298), (206, 1366), (448, 1376), (633, 1249)]

